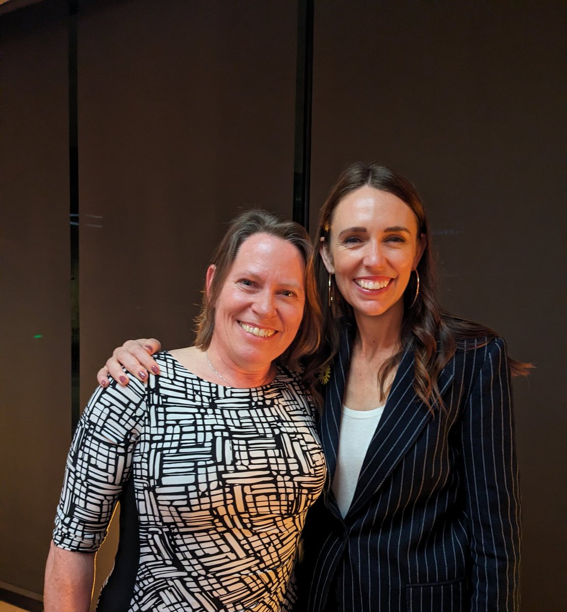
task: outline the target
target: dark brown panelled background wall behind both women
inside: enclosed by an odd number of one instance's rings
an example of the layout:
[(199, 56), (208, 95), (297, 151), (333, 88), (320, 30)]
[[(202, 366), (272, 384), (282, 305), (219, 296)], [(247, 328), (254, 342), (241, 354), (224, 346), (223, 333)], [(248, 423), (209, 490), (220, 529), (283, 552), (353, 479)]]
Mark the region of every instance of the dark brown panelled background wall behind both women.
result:
[[(0, 588), (42, 591), (71, 435), (71, 327), (83, 405), (125, 338), (190, 343), (206, 264), (239, 207), (291, 217), (297, 9), (78, 4), (73, 308), (75, 26), (66, 2), (1, 15)], [(431, 216), (447, 307), (538, 367), (515, 385), (526, 612), (565, 599), (562, 19), (559, 2), (326, 0), (314, 21), (311, 228), (352, 160), (407, 174)]]

